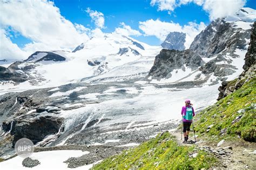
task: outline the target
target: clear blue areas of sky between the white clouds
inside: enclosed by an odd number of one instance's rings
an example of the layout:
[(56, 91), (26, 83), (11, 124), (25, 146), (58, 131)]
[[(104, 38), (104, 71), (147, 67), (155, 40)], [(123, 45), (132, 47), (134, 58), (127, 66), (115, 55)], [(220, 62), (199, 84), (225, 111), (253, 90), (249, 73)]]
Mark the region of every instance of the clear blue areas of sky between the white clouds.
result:
[[(60, 9), (60, 14), (72, 23), (78, 23), (87, 28), (94, 29), (95, 25), (91, 22), (86, 8), (102, 12), (105, 17), (105, 26), (103, 32), (113, 32), (124, 22), (133, 29), (138, 29), (140, 21), (147, 19), (157, 19), (165, 22), (179, 23), (185, 25), (188, 22), (200, 23), (206, 25), (210, 23), (208, 13), (194, 3), (188, 3), (176, 8), (171, 15), (167, 11), (159, 11), (157, 6), (151, 6), (149, 0), (54, 0), (55, 5)], [(256, 9), (256, 3), (253, 0), (247, 1), (246, 7)], [(14, 32), (10, 32), (14, 35)], [(150, 45), (159, 45), (161, 40), (155, 36), (139, 36), (134, 37), (142, 42)], [(16, 32), (16, 36), (11, 37), (12, 42), (23, 47), (26, 43), (31, 42), (30, 39), (23, 37)]]

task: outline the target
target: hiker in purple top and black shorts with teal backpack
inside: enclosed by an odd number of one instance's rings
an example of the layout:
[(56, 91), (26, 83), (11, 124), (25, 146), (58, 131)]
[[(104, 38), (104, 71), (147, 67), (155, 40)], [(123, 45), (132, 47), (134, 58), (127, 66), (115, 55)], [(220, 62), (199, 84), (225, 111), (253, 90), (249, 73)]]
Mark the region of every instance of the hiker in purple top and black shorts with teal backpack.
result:
[(194, 108), (192, 107), (190, 100), (185, 101), (185, 106), (182, 107), (181, 115), (183, 115), (183, 134), (184, 142), (188, 140), (188, 134), (190, 134), (190, 126), (194, 117)]

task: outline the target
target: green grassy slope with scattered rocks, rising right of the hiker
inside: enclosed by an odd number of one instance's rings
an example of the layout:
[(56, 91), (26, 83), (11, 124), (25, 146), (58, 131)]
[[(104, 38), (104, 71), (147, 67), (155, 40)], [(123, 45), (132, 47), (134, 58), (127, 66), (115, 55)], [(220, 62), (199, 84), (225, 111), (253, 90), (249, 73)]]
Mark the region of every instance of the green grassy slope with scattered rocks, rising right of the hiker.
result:
[(256, 78), (252, 78), (237, 91), (197, 114), (195, 131), (213, 138), (240, 135), (246, 141), (255, 142), (255, 94)]

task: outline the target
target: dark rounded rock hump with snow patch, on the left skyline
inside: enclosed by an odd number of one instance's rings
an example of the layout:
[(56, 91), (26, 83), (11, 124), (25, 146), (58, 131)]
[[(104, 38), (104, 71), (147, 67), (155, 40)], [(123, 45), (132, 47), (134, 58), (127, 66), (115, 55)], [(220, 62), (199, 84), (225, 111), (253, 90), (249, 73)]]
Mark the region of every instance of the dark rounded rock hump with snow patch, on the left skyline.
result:
[[(37, 56), (39, 53), (47, 53), (46, 56), (42, 57), (42, 58), (36, 58), (35, 56)], [(29, 56), (28, 59), (25, 59), (24, 62), (31, 62), (35, 60), (34, 62), (41, 62), (41, 61), (53, 61), (53, 62), (60, 62), (60, 61), (65, 61), (66, 59), (60, 55), (57, 55), (56, 53), (53, 52), (45, 52), (45, 51), (37, 51), (35, 53), (33, 53), (31, 56)]]

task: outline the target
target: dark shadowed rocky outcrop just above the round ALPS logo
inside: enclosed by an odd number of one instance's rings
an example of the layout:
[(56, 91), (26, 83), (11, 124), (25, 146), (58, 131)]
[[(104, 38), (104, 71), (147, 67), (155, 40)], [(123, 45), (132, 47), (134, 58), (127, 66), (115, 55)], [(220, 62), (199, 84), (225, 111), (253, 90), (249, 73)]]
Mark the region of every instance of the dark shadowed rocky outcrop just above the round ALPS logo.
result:
[(21, 138), (28, 138), (34, 144), (43, 140), (46, 135), (59, 131), (63, 118), (45, 115), (34, 119), (15, 120), (12, 125), (11, 135), (14, 135), (12, 145)]

